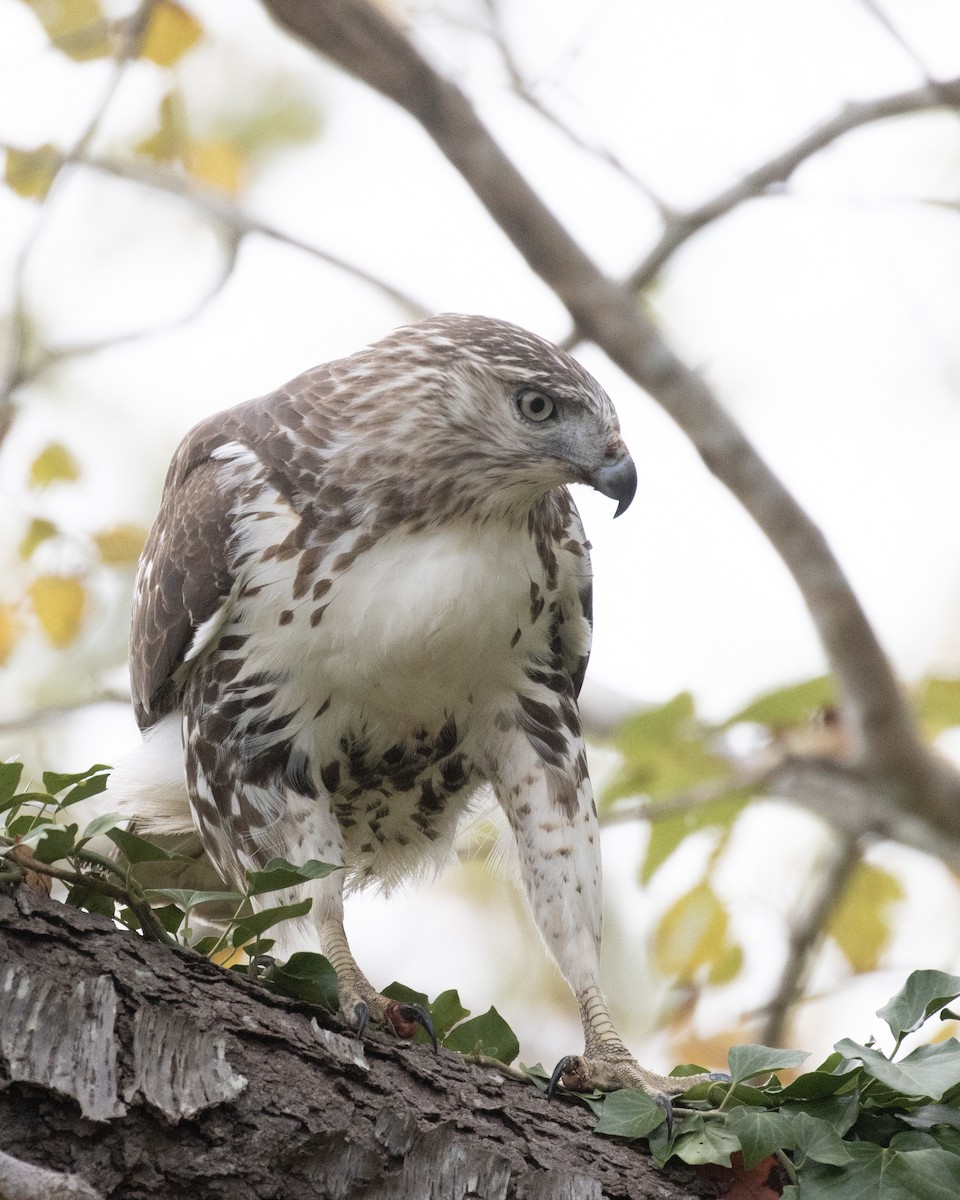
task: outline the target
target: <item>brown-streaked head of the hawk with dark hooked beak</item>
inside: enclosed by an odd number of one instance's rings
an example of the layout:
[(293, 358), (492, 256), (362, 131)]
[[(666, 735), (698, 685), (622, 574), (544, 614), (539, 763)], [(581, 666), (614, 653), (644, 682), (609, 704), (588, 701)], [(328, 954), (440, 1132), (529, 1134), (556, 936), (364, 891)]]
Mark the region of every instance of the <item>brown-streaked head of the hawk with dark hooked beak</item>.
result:
[(342, 360), (335, 377), (341, 419), (389, 446), (380, 486), (402, 486), (421, 511), (521, 516), (574, 482), (616, 499), (617, 516), (634, 498), (610, 397), (569, 354), (508, 322), (433, 317)]

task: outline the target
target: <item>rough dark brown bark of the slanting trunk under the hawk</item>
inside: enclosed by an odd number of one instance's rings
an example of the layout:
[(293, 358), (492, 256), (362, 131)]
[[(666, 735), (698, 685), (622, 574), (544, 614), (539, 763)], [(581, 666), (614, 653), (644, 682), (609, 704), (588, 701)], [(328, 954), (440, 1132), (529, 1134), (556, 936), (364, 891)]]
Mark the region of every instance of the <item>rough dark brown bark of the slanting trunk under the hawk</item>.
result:
[(592, 1126), (460, 1055), (359, 1046), (197, 954), (0, 890), (0, 1200), (716, 1194)]

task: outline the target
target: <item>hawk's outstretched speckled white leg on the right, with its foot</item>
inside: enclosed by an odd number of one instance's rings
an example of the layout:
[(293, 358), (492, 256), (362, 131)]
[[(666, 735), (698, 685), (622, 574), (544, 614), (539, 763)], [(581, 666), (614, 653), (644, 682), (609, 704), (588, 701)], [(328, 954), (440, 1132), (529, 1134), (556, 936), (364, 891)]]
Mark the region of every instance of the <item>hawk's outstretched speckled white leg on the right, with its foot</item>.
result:
[[(571, 724), (576, 720), (575, 710), (565, 715)], [(554, 733), (547, 756), (535, 737), (508, 732), (492, 770), (520, 850), (534, 920), (577, 998), (583, 1022), (583, 1054), (560, 1061), (551, 1090), (558, 1080), (572, 1091), (642, 1087), (670, 1112), (671, 1096), (714, 1076), (673, 1078), (647, 1070), (613, 1026), (600, 990), (602, 883), (593, 788), (578, 726), (562, 726), (562, 734), (564, 752), (558, 751)]]

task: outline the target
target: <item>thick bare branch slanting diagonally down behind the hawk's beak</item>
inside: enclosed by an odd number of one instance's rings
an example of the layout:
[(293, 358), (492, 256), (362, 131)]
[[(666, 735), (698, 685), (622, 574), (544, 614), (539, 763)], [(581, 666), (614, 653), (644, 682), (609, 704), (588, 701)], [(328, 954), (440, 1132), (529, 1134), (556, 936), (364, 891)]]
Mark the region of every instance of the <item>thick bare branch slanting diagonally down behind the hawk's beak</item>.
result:
[[(688, 434), (707, 467), (733, 492), (791, 570), (840, 682), (845, 719), (860, 761), (886, 774), (905, 806), (954, 832), (960, 778), (923, 746), (889, 662), (822, 533), (770, 472), (700, 376), (680, 361), (637, 307), (632, 290), (602, 275), (491, 137), (463, 92), (440, 77), (400, 29), (364, 0), (264, 0), (275, 18), (320, 53), (394, 100), (433, 138), (536, 275), (553, 289), (584, 337), (653, 395)], [(938, 89), (940, 91), (940, 89)], [(960, 85), (958, 85), (960, 94)], [(924, 91), (888, 115), (940, 103)], [(878, 119), (876, 102), (870, 119)], [(842, 131), (863, 124), (847, 114)], [(769, 186), (841, 130), (811, 134)], [(755, 173), (756, 174), (756, 173)], [(743, 186), (743, 185), (740, 185)], [(749, 188), (761, 186), (752, 179)], [(749, 191), (748, 188), (748, 191)]]

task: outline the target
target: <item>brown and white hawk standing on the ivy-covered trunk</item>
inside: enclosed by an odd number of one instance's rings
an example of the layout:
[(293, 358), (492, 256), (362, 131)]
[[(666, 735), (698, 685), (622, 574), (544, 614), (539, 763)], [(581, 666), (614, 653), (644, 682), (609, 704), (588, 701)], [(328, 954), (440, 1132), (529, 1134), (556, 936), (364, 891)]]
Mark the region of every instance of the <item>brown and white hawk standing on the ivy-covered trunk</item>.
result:
[(194, 830), (222, 878), (275, 856), (340, 864), (276, 953), (320, 950), (342, 1016), (409, 1036), (350, 954), (348, 883), (442, 863), (484, 785), (583, 1021), (577, 1088), (676, 1093), (641, 1068), (599, 984), (596, 809), (577, 710), (589, 544), (566, 485), (617, 500), (636, 468), (570, 355), (503, 320), (439, 316), (197, 425), (139, 565), (142, 749), (118, 772), (139, 828)]

